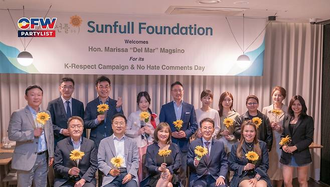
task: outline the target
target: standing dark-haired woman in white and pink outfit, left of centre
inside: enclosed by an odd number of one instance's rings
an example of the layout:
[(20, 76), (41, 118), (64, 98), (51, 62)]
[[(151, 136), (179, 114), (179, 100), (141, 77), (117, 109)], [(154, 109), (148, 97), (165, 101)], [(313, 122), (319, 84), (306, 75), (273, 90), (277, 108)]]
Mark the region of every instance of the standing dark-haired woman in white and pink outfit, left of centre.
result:
[[(150, 106), (150, 96), (148, 92), (140, 92), (137, 94), (137, 106), (139, 110), (131, 113), (127, 119), (127, 127), (125, 135), (133, 138), (136, 141), (139, 154), (139, 167), (138, 167), (138, 179), (142, 180), (142, 156), (146, 153), (146, 147), (153, 142), (153, 131), (156, 128), (159, 120), (157, 115), (152, 113)], [(141, 112), (148, 112), (150, 114), (148, 122), (140, 118)]]

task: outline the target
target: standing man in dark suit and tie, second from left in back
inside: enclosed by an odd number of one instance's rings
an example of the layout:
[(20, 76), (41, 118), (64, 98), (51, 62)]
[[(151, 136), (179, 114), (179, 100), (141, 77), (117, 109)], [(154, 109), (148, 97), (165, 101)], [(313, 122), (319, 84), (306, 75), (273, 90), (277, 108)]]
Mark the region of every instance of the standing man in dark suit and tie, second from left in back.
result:
[[(84, 104), (72, 98), (74, 91), (74, 80), (68, 77), (61, 79), (59, 90), (61, 97), (54, 99), (48, 103), (47, 110), (51, 113), (53, 120), (54, 130), (54, 146), (56, 147), (57, 142), (70, 136), (69, 130), (67, 129), (67, 122), (71, 116), (79, 116), (84, 118)], [(83, 133), (86, 137), (86, 133)]]

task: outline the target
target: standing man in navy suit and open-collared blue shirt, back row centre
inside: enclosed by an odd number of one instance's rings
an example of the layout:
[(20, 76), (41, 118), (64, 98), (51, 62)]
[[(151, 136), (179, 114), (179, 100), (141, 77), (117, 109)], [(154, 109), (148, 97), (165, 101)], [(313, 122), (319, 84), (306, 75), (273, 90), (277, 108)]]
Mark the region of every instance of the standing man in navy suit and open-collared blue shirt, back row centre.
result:
[[(184, 88), (180, 82), (171, 85), (171, 95), (173, 101), (161, 106), (159, 121), (167, 122), (172, 130), (172, 142), (180, 147), (181, 166), (180, 166), (180, 183), (181, 186), (186, 185), (187, 180), (187, 152), (189, 150), (189, 138), (197, 130), (197, 121), (195, 108), (193, 105), (183, 101)], [(183, 120), (183, 126), (178, 131), (173, 122)]]

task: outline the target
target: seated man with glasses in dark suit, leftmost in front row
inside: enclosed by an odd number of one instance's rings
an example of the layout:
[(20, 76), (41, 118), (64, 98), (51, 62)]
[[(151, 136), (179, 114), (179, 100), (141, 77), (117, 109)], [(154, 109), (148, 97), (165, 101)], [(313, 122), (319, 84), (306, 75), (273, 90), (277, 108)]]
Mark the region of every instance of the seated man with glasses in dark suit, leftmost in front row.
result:
[[(84, 120), (79, 116), (70, 117), (68, 120), (68, 131), (70, 137), (59, 141), (56, 145), (54, 187), (95, 186), (97, 149), (94, 141), (82, 137)], [(70, 159), (70, 153), (74, 149), (84, 152), (84, 156), (79, 161)]]

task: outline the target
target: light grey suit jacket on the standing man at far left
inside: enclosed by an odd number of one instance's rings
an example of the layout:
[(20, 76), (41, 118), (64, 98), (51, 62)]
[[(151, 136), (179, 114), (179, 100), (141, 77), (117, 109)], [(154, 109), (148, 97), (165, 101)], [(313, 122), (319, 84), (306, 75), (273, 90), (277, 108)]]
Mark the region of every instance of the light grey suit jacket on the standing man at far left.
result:
[[(49, 111), (41, 111), (47, 112)], [(12, 113), (8, 126), (8, 136), (12, 141), (16, 141), (16, 147), (13, 154), (12, 168), (29, 171), (37, 159), (38, 137), (35, 137), (33, 131), (36, 127), (35, 121), (29, 107), (16, 110)], [(47, 142), (48, 156), (54, 157), (54, 133), (52, 119), (44, 125), (44, 132)]]

